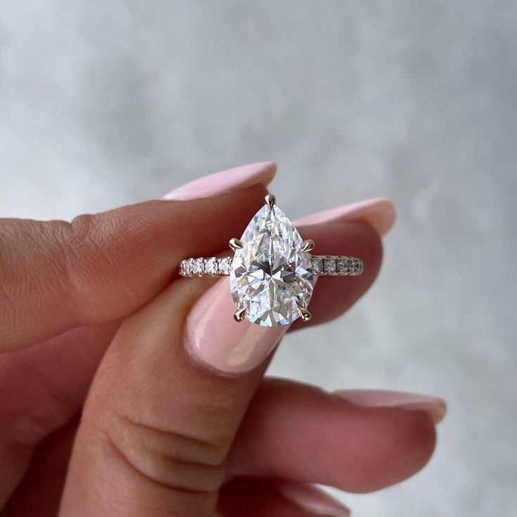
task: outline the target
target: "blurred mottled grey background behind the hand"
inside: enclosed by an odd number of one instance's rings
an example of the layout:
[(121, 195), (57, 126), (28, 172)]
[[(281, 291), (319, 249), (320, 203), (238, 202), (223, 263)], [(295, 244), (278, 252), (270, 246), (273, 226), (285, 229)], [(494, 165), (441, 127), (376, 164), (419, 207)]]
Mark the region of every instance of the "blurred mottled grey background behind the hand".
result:
[(516, 1), (2, 0), (0, 215), (269, 159), (292, 218), (390, 197), (377, 283), (270, 373), (447, 399), (431, 463), (339, 495), (355, 515), (515, 516), (516, 25)]

